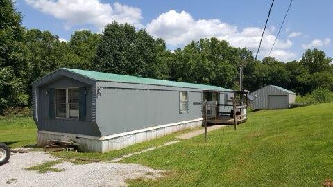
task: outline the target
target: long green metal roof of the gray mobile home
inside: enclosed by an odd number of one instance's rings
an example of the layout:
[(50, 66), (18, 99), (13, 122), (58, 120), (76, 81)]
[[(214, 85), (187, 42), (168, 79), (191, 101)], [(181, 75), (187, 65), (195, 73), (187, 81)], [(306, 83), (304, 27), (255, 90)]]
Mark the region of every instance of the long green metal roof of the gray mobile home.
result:
[(117, 75), (117, 74), (112, 74), (112, 73), (87, 71), (87, 70), (81, 70), (81, 69), (69, 69), (69, 68), (62, 68), (62, 69), (85, 76), (87, 78), (91, 78), (96, 81), (126, 82), (126, 83), (136, 83), (136, 84), (161, 85), (161, 86), (168, 86), (168, 87), (187, 87), (187, 88), (194, 88), (194, 89), (231, 91), (231, 89), (225, 89), (222, 87), (210, 86), (210, 85), (205, 85), (205, 84), (193, 84), (193, 83), (187, 83), (187, 82), (176, 82), (176, 81), (159, 80), (159, 79), (153, 79), (153, 78), (142, 78), (142, 77), (129, 76), (129, 75)]

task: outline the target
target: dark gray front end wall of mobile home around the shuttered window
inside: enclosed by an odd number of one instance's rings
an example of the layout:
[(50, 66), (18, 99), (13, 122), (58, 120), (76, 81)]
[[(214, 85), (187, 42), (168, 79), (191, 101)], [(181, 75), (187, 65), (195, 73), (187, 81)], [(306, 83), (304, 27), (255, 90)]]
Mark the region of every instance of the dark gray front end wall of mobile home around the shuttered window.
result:
[[(49, 88), (68, 88), (86, 87), (87, 88), (87, 112), (86, 121), (78, 119), (50, 119), (49, 118), (49, 95), (46, 91)], [(92, 123), (92, 86), (68, 77), (62, 77), (53, 82), (49, 82), (42, 87), (35, 88), (37, 91), (37, 127), (38, 130), (51, 132), (65, 132), (72, 134), (84, 134), (90, 136), (100, 136), (96, 124)]]

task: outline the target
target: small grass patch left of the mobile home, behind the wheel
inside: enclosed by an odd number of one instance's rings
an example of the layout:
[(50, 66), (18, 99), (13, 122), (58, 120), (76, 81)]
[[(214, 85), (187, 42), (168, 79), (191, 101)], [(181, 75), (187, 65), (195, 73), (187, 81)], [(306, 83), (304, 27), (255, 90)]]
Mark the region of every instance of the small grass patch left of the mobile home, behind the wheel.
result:
[(6, 118), (0, 116), (0, 142), (10, 148), (23, 147), (37, 143), (37, 127), (33, 118)]

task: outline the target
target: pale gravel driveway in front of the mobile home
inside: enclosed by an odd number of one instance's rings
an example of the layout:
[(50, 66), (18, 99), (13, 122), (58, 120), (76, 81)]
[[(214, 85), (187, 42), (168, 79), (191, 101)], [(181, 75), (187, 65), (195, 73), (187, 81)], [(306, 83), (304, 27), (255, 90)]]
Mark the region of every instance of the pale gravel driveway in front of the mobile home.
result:
[(138, 164), (89, 163), (74, 165), (63, 162), (53, 168), (62, 172), (27, 171), (24, 168), (37, 166), (57, 158), (45, 152), (12, 154), (9, 163), (0, 166), (0, 186), (127, 186), (126, 181), (145, 177), (162, 177), (162, 170), (154, 170)]

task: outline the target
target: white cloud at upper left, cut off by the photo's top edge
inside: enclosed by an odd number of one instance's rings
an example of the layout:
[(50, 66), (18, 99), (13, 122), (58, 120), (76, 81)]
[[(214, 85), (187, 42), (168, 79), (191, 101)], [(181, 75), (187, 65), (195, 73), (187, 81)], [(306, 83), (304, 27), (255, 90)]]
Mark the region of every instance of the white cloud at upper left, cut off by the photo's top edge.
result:
[(112, 21), (142, 27), (141, 10), (121, 3), (101, 3), (99, 0), (25, 0), (34, 8), (65, 21), (65, 28), (92, 24), (103, 30)]

